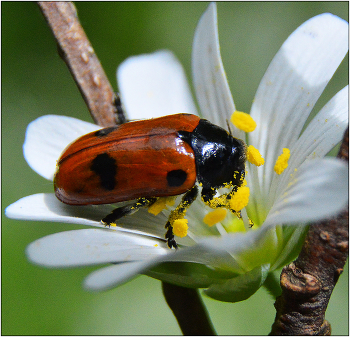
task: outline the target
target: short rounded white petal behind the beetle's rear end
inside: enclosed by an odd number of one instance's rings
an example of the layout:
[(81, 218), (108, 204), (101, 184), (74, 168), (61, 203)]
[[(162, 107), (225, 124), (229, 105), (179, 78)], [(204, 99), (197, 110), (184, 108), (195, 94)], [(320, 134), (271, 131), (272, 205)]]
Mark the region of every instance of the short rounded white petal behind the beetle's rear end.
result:
[(28, 165), (42, 177), (53, 180), (56, 161), (64, 148), (78, 137), (101, 129), (76, 118), (46, 115), (31, 122), (23, 144)]

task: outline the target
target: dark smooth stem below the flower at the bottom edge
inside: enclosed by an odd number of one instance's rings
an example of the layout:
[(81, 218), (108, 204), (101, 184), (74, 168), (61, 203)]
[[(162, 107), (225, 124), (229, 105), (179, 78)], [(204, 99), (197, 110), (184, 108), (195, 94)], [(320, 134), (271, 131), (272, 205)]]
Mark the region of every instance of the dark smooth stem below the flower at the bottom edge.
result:
[(197, 289), (162, 283), (164, 297), (186, 336), (214, 336), (216, 332)]

